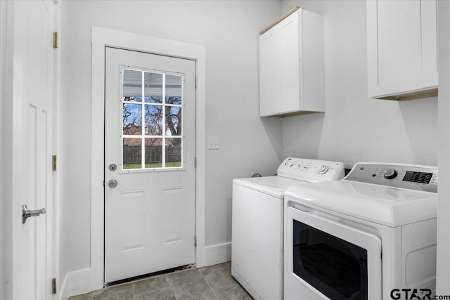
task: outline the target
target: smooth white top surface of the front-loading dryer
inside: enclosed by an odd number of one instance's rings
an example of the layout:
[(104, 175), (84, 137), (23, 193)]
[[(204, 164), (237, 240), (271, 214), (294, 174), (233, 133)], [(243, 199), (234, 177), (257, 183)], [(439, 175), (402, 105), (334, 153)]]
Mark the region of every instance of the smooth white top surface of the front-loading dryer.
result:
[(353, 181), (328, 181), (288, 188), (285, 199), (397, 227), (437, 216), (437, 194)]

